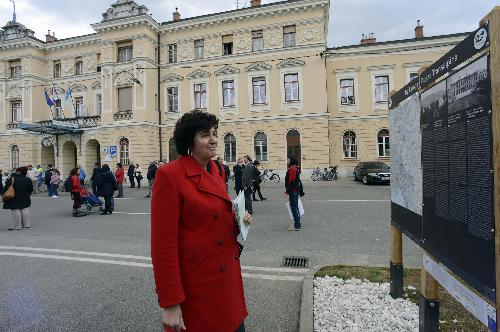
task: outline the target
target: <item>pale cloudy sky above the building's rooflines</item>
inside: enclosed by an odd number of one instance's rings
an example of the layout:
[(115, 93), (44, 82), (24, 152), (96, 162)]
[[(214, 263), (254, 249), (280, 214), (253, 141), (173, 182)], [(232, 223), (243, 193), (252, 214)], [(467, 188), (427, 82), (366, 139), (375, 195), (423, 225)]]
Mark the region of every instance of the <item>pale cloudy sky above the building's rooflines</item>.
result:
[[(249, 0), (238, 0), (240, 6)], [(426, 36), (468, 32), (498, 0), (330, 0), (328, 46), (358, 44), (361, 35), (373, 32), (377, 41), (413, 38), (418, 19)], [(45, 39), (47, 30), (67, 38), (92, 33), (91, 23), (114, 0), (17, 0), (17, 20)], [(136, 0), (147, 6), (153, 17), (171, 20), (175, 7), (183, 18), (236, 9), (236, 0)], [(263, 0), (262, 3), (276, 2)], [(415, 4), (418, 4), (416, 6)], [(0, 0), (0, 24), (12, 19), (12, 4)]]

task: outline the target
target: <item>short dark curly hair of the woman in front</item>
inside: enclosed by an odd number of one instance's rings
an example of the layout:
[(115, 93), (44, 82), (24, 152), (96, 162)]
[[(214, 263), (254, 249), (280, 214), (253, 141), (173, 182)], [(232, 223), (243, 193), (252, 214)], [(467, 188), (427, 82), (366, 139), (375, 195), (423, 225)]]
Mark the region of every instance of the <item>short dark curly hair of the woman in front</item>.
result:
[(188, 150), (193, 147), (194, 137), (197, 133), (217, 129), (219, 119), (213, 114), (191, 111), (184, 114), (175, 124), (174, 140), (177, 153), (187, 155)]

